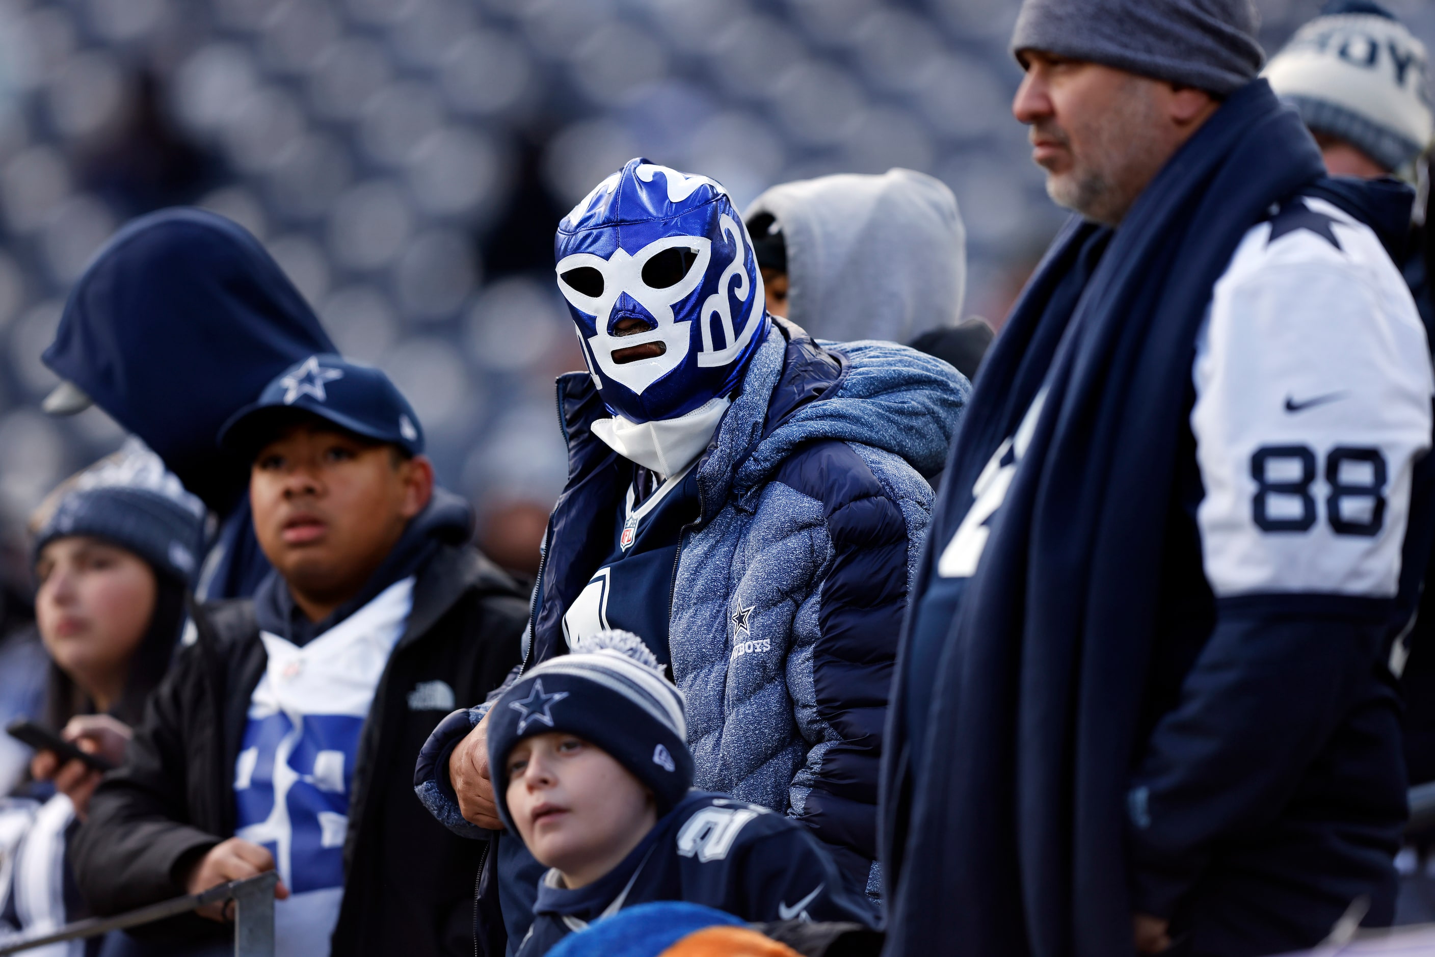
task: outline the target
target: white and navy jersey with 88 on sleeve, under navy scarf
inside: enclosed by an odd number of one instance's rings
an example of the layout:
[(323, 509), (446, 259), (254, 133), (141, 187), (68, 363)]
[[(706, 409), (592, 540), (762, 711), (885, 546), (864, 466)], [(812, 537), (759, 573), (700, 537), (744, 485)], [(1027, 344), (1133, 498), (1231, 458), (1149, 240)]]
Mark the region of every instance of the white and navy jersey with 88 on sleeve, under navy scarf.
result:
[[(1192, 346), (1126, 791), (1131, 908), (1195, 927), (1200, 953), (1273, 953), (1287, 947), (1243, 934), (1339, 917), (1360, 895), (1373, 921), (1393, 905), (1405, 773), (1385, 660), (1398, 670), (1406, 561), (1428, 554), (1412, 489), (1435, 376), (1378, 234), (1314, 194), (1246, 232)], [(1046, 396), (992, 453), (960, 524), (934, 531), (913, 687), (1003, 534)], [(905, 710), (914, 755), (931, 753), (926, 686)], [(1223, 908), (1248, 925), (1210, 917)]]

